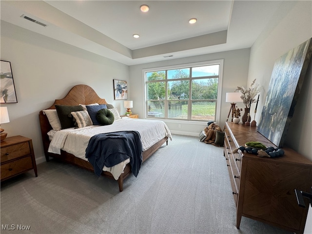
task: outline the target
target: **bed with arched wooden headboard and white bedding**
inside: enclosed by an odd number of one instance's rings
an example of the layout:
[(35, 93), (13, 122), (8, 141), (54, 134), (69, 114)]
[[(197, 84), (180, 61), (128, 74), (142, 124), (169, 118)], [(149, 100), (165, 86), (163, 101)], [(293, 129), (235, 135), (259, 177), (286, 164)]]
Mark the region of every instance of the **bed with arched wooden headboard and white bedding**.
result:
[[(101, 128), (106, 128), (106, 126), (92, 125), (81, 128), (68, 128), (60, 131), (54, 131), (54, 128), (52, 128), (51, 126), (52, 123), (50, 124), (46, 114), (48, 110), (54, 111), (56, 109), (56, 106), (58, 107), (58, 105), (78, 106), (90, 105), (93, 103), (106, 104), (107, 106), (109, 105), (105, 101), (105, 99), (99, 98), (96, 92), (91, 87), (89, 87), (88, 85), (79, 84), (74, 86), (65, 96), (65, 98), (56, 99), (52, 106), (39, 112), (41, 136), (44, 154), (47, 162), (49, 161), (50, 157), (52, 157), (63, 162), (71, 163), (78, 167), (94, 171), (92, 164), (85, 158), (85, 156), (81, 152), (85, 152), (85, 147), (88, 145), (88, 139), (90, 139), (90, 137), (94, 135), (97, 135), (98, 133), (101, 133)], [(150, 124), (150, 126), (154, 126), (155, 124), (154, 128), (158, 129), (157, 136), (154, 137), (155, 129), (153, 130), (153, 127), (140, 127), (144, 126), (143, 124)], [(163, 124), (163, 126), (159, 127), (159, 124)], [(122, 119), (116, 119), (113, 124), (107, 126), (107, 129), (103, 130), (103, 133), (116, 132), (112, 129), (116, 129), (116, 131), (120, 131), (121, 129), (132, 129), (133, 131), (137, 131), (139, 132), (139, 134), (141, 134), (143, 148), (142, 162), (144, 162), (147, 158), (153, 155), (153, 153), (155, 153), (156, 150), (164, 143), (168, 145), (168, 139), (171, 139), (170, 130), (168, 129), (167, 125), (160, 120), (134, 119), (123, 117)], [(152, 131), (148, 129), (151, 129)], [(78, 138), (80, 133), (84, 135)], [(149, 140), (146, 140), (146, 137), (149, 138)], [(81, 147), (78, 150), (76, 149), (76, 147), (73, 147), (73, 149), (71, 149), (71, 145), (73, 142), (75, 142), (76, 146), (81, 146), (82, 149)], [(55, 146), (59, 147), (59, 152), (58, 149), (55, 150), (55, 148), (53, 148)], [(118, 182), (119, 191), (121, 192), (123, 190), (123, 180), (132, 173), (131, 169), (132, 168), (128, 160), (123, 161), (122, 163), (111, 168), (104, 167), (103, 171), (101, 171), (101, 175), (116, 179)], [(120, 172), (120, 170), (122, 171)]]

